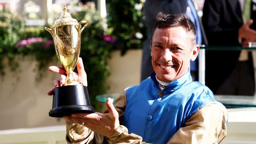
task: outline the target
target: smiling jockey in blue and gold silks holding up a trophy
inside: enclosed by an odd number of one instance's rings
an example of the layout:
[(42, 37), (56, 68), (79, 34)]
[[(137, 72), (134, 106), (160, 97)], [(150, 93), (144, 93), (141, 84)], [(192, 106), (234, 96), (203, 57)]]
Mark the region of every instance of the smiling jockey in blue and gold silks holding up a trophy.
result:
[[(199, 51), (195, 37), (195, 25), (184, 14), (158, 13), (151, 41), (154, 72), (125, 89), (114, 105), (108, 99), (105, 114), (65, 116), (67, 142), (103, 143), (104, 135), (109, 143), (220, 143), (227, 133), (227, 110), (210, 89), (192, 82), (188, 66)], [(77, 69), (78, 81), (87, 85), (81, 59)], [(63, 74), (55, 87), (64, 84), (63, 68), (49, 70)]]

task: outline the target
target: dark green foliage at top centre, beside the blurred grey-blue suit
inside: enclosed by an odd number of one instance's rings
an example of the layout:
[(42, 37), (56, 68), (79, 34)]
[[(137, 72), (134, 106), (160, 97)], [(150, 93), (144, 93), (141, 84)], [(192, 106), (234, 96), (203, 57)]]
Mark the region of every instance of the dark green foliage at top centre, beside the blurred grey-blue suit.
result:
[[(108, 0), (108, 27), (112, 30), (111, 36), (117, 39), (116, 48), (124, 54), (127, 49), (142, 48), (146, 39), (141, 0)], [(136, 7), (136, 9), (135, 9)], [(142, 38), (136, 33), (143, 35)]]

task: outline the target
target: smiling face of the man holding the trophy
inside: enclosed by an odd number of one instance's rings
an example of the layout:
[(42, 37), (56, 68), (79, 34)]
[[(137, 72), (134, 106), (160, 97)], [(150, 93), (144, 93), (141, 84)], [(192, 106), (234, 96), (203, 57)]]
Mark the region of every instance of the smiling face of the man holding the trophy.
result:
[(192, 46), (190, 35), (182, 27), (156, 28), (152, 37), (152, 65), (157, 78), (172, 82), (183, 76), (190, 59), (195, 60), (199, 46)]

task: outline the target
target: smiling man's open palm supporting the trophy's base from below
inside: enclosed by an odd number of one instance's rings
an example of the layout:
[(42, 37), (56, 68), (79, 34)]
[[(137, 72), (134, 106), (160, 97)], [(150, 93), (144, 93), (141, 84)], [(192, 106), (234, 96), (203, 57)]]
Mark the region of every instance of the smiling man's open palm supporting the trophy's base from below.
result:
[(108, 114), (76, 113), (72, 114), (72, 116), (64, 116), (63, 118), (78, 124), (84, 123), (84, 126), (88, 127), (93, 132), (97, 132), (109, 138), (120, 124), (118, 112), (112, 103), (112, 99), (108, 98), (106, 105), (109, 111)]

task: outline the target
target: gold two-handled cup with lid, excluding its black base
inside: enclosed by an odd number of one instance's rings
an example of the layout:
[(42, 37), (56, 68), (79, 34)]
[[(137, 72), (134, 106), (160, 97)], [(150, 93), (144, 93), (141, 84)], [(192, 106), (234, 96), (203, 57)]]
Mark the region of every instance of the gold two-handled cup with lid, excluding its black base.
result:
[[(45, 28), (45, 30), (51, 33), (57, 57), (67, 71), (66, 85), (83, 85), (74, 80), (72, 71), (76, 67), (80, 53), (80, 36), (87, 26), (87, 21), (83, 20), (78, 23), (76, 19), (72, 19), (70, 13), (67, 12), (66, 5), (64, 5), (63, 11), (60, 19), (55, 20), (52, 29)], [(83, 28), (82, 24), (85, 24)]]

